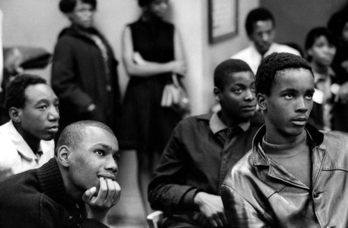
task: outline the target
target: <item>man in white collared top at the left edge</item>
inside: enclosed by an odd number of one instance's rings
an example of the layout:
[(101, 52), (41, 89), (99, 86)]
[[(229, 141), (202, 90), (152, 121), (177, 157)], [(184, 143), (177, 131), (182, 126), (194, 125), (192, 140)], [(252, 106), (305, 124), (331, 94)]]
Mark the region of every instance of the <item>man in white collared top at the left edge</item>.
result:
[(37, 75), (15, 77), (6, 89), (10, 121), (0, 126), (0, 180), (35, 169), (54, 156), (58, 98)]

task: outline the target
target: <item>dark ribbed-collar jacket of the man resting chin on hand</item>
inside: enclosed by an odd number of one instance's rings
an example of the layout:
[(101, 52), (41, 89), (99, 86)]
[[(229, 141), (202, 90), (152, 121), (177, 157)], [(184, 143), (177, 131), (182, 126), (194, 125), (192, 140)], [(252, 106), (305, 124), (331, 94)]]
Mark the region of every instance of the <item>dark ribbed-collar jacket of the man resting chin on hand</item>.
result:
[[(77, 208), (76, 205), (79, 205)], [(54, 158), (0, 182), (0, 227), (63, 228), (106, 225), (86, 219), (84, 202), (71, 202)]]

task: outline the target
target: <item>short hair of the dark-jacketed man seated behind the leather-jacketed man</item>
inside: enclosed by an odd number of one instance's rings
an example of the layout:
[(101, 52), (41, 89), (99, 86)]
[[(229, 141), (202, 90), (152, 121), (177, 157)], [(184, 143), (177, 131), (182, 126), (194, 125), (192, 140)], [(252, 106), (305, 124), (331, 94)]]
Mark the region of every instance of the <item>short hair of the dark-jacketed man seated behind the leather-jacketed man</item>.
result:
[(248, 63), (240, 59), (227, 59), (216, 66), (214, 70), (214, 86), (222, 90), (226, 84), (226, 77), (232, 73), (245, 71), (253, 72)]

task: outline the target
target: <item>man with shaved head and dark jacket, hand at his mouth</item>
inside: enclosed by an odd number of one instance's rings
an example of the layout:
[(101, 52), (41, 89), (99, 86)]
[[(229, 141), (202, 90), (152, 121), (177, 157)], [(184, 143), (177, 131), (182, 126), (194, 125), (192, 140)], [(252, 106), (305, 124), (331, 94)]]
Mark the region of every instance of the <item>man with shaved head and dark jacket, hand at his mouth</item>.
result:
[(107, 227), (107, 214), (120, 199), (119, 156), (104, 123), (70, 124), (54, 158), (0, 182), (0, 227)]

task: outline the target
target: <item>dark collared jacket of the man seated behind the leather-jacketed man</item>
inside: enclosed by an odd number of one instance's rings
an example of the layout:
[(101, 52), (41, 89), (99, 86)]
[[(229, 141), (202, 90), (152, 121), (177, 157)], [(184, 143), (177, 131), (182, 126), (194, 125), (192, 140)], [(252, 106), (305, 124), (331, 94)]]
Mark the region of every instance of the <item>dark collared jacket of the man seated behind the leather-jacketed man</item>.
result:
[[(169, 140), (149, 185), (154, 209), (168, 213), (198, 210), (193, 203), (197, 190), (220, 195), (228, 169), (251, 149), (263, 116), (256, 113), (248, 123), (228, 128), (217, 114), (182, 120)], [(187, 199), (187, 200), (184, 200)]]

